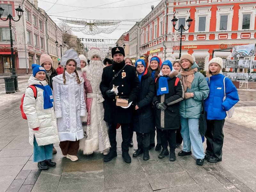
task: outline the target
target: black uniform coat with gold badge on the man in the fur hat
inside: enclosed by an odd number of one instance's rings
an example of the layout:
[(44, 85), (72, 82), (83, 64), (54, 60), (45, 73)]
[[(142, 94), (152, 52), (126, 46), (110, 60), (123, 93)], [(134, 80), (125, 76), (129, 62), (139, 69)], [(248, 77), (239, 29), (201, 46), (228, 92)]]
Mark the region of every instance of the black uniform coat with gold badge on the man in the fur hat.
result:
[[(103, 68), (100, 91), (104, 98), (104, 121), (108, 123), (128, 124), (132, 122), (132, 109), (135, 107), (134, 103), (138, 99), (140, 92), (140, 81), (137, 76), (136, 68), (130, 65), (126, 65), (124, 67), (124, 65), (124, 61), (122, 63), (113, 62), (113, 65)], [(124, 69), (122, 69), (123, 67)], [(112, 81), (112, 78), (120, 69), (122, 69), (122, 71)], [(113, 84), (119, 86), (117, 88), (118, 96), (123, 97), (124, 99), (129, 99), (129, 102), (133, 101), (129, 108), (125, 109), (116, 106), (116, 99), (109, 98), (106, 95), (107, 90), (111, 90), (113, 88)]]

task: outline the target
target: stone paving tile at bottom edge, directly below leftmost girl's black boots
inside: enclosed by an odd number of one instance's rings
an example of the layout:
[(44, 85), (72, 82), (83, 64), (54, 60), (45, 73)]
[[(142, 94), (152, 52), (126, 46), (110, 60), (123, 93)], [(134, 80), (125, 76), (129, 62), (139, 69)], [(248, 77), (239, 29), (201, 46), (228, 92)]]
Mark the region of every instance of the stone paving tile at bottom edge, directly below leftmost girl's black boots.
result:
[(36, 183), (32, 189), (32, 192), (52, 192), (56, 191), (59, 185), (60, 175), (54, 175), (46, 172), (41, 172)]

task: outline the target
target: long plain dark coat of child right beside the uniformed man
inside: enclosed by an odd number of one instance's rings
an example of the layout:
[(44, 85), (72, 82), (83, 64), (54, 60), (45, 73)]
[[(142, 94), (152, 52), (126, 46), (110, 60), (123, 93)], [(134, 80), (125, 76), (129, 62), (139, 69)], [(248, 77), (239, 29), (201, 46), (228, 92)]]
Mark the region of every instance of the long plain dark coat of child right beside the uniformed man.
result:
[(154, 95), (154, 79), (149, 74), (146, 74), (141, 77), (140, 94), (137, 103), (139, 109), (134, 109), (133, 111), (133, 131), (140, 133), (149, 133), (154, 131), (154, 110), (152, 104)]

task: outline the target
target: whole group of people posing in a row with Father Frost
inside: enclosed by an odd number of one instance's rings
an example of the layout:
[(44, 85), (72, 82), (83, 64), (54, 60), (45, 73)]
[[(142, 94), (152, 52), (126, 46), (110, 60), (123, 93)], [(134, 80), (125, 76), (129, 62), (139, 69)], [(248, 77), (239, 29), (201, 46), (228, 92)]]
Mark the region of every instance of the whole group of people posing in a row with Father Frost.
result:
[[(183, 139), (178, 156), (193, 152), (197, 165), (203, 165), (204, 159), (222, 160), (226, 111), (239, 97), (231, 80), (222, 75), (221, 58), (209, 61), (205, 78), (189, 54), (173, 62), (153, 56), (147, 67), (143, 59), (133, 65), (124, 58), (123, 47), (114, 47), (111, 53), (113, 61), (102, 62), (100, 50), (91, 49), (88, 63), (84, 55), (69, 49), (61, 58), (63, 73), (55, 76), (47, 54), (41, 55), (40, 65), (32, 65), (23, 110), (29, 143), (34, 146), (33, 160), (40, 169), (56, 165), (52, 154), (58, 142), (63, 156), (71, 161), (78, 160), (78, 150), (85, 155), (100, 152), (104, 162), (112, 160), (117, 156), (119, 127), (126, 163), (131, 163), (128, 152), (133, 132), (138, 143), (133, 157), (143, 154), (143, 160), (148, 160), (149, 150), (155, 147), (162, 149), (158, 158), (169, 155), (175, 161), (175, 148)], [(128, 106), (117, 105), (117, 98), (128, 100)], [(202, 111), (207, 123), (205, 153), (199, 132)]]

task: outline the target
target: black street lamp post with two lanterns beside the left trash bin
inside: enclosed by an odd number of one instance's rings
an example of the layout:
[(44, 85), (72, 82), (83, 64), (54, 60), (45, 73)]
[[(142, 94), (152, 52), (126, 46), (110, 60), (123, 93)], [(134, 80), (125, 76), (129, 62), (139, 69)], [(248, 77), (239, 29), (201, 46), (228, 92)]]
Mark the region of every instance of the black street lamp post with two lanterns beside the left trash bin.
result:
[(11, 77), (14, 77), (15, 91), (18, 92), (18, 91), (19, 91), (19, 87), (18, 87), (18, 76), (17, 76), (17, 74), (16, 74), (15, 63), (14, 63), (13, 43), (12, 43), (12, 29), (11, 29), (12, 23), (11, 23), (11, 21), (12, 21), (12, 20), (15, 21), (15, 22), (19, 21), (24, 11), (20, 8), (20, 5), (19, 5), (19, 7), (16, 8), (15, 10), (16, 10), (16, 13), (17, 13), (17, 15), (18, 15), (18, 17), (19, 17), (18, 20), (14, 20), (14, 18), (12, 17), (11, 14), (9, 14), (6, 19), (2, 19), (2, 15), (3, 15), (3, 13), (4, 13), (4, 9), (0, 6), (0, 19), (3, 20), (3, 21), (7, 21), (7, 20), (9, 19), (10, 41), (11, 41), (11, 58), (12, 58), (12, 75), (11, 75)]

